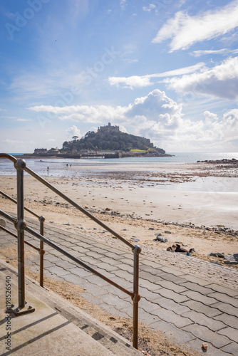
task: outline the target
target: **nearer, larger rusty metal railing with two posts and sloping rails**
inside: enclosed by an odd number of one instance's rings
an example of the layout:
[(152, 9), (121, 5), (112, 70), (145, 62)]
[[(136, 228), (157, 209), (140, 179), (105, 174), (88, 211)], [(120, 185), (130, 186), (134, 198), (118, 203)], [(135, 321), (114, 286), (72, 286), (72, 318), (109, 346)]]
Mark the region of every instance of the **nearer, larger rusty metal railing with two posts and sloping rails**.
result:
[[(73, 201), (71, 198), (67, 197), (61, 191), (56, 189), (56, 187), (53, 187), (53, 185), (48, 183), (45, 179), (38, 176), (38, 174), (36, 174), (29, 167), (26, 166), (26, 162), (24, 161), (24, 159), (16, 159), (16, 157), (8, 155), (6, 153), (1, 153), (0, 158), (10, 159), (11, 162), (14, 162), (14, 167), (16, 168), (16, 172), (17, 172), (17, 219), (14, 219), (12, 216), (6, 214), (4, 211), (1, 210), (0, 210), (0, 215), (4, 216), (9, 221), (13, 222), (18, 232), (19, 309), (25, 308), (24, 231), (26, 230), (36, 238), (40, 239), (40, 241), (45, 242), (46, 244), (48, 244), (53, 248), (56, 248), (57, 251), (63, 253), (68, 258), (71, 258), (71, 260), (80, 264), (81, 266), (83, 266), (83, 268), (86, 268), (88, 271), (94, 273), (96, 276), (99, 276), (104, 281), (107, 281), (108, 283), (112, 284), (116, 288), (122, 290), (124, 293), (130, 295), (130, 297), (133, 300), (133, 347), (137, 349), (138, 348), (138, 303), (140, 300), (140, 294), (139, 294), (139, 255), (141, 251), (140, 246), (138, 245), (134, 246), (133, 244), (131, 244), (129, 241), (124, 239), (123, 236), (120, 236), (120, 234), (115, 232), (113, 229), (110, 229), (110, 227), (104, 224), (103, 221), (97, 219), (95, 216), (93, 216), (93, 214), (90, 214), (89, 211), (87, 211), (82, 206), (78, 205), (75, 201)], [(90, 219), (95, 221), (97, 224), (102, 226), (103, 229), (109, 231), (110, 234), (113, 234), (113, 236), (117, 237), (120, 241), (123, 241), (124, 244), (132, 248), (134, 254), (133, 292), (130, 292), (129, 290), (123, 288), (122, 286), (119, 286), (118, 283), (111, 281), (108, 277), (103, 276), (101, 273), (98, 273), (93, 268), (88, 266), (86, 263), (80, 261), (78, 258), (71, 255), (71, 253), (68, 253), (67, 251), (63, 250), (63, 248), (54, 244), (52, 241), (46, 239), (46, 237), (44, 237), (42, 234), (38, 234), (36, 231), (34, 231), (33, 229), (29, 228), (26, 225), (26, 221), (24, 219), (24, 171), (31, 174), (32, 177), (36, 178), (39, 182), (41, 182), (46, 187), (51, 189), (53, 192), (58, 194), (60, 197), (68, 201), (68, 203), (75, 206), (76, 209), (78, 209), (83, 214), (88, 216)]]

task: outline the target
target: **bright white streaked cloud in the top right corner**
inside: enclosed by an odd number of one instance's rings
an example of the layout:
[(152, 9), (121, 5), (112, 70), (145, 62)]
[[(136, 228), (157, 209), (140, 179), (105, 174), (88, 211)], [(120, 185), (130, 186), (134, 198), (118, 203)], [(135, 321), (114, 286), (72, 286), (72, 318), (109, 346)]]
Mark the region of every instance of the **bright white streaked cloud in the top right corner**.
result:
[(173, 19), (165, 23), (152, 43), (161, 43), (172, 38), (170, 52), (185, 50), (194, 43), (222, 36), (238, 26), (238, 1), (214, 11), (190, 16), (178, 11)]

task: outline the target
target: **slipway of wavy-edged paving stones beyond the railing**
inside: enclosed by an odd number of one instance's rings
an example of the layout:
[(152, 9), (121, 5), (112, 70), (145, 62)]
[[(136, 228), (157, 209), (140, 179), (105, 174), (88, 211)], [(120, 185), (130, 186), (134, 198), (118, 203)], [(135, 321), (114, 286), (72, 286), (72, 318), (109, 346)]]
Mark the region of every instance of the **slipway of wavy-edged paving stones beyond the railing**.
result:
[[(39, 231), (37, 220), (28, 225)], [(10, 224), (7, 223), (8, 229)], [(104, 276), (133, 291), (133, 253), (117, 239), (78, 229), (78, 234), (45, 225), (45, 236)], [(26, 241), (38, 246), (26, 233)], [(16, 239), (0, 231), (0, 246), (16, 245)], [(98, 276), (77, 266), (45, 244), (44, 271), (58, 281), (85, 288), (83, 297), (106, 312), (132, 317), (131, 298)], [(26, 263), (38, 271), (39, 258), (33, 254)], [(238, 355), (238, 272), (178, 253), (143, 248), (140, 254), (139, 319), (152, 329), (197, 350), (207, 342), (207, 355)]]

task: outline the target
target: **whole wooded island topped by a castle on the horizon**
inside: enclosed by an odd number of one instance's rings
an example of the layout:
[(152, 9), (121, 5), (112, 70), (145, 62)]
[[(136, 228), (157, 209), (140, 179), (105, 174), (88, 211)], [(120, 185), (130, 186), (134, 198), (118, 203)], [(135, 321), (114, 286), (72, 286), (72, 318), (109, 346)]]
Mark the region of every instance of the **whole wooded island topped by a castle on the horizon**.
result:
[(51, 148), (36, 148), (27, 157), (172, 157), (162, 148), (155, 147), (150, 139), (131, 135), (119, 130), (119, 126), (108, 125), (98, 127), (98, 131), (88, 131), (78, 140), (73, 136), (71, 141), (63, 142), (60, 150)]

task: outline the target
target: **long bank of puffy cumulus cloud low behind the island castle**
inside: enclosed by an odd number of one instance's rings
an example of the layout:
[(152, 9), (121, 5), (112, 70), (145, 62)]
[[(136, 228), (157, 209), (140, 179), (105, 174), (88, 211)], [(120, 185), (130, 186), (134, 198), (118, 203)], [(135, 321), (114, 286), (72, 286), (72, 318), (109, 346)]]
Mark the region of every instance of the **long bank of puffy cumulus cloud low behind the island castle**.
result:
[[(182, 113), (182, 104), (176, 103), (165, 92), (152, 90), (148, 95), (135, 98), (127, 106), (78, 105), (65, 108), (36, 106), (36, 112), (56, 112), (61, 120), (102, 123), (110, 121), (120, 130), (134, 135), (150, 137), (157, 147), (167, 152), (185, 152), (192, 147), (201, 150), (235, 150), (238, 143), (238, 109), (227, 111), (222, 117), (206, 110), (199, 120), (192, 120)], [(125, 128), (127, 130), (125, 130)], [(76, 125), (69, 127), (68, 136), (81, 136)]]

